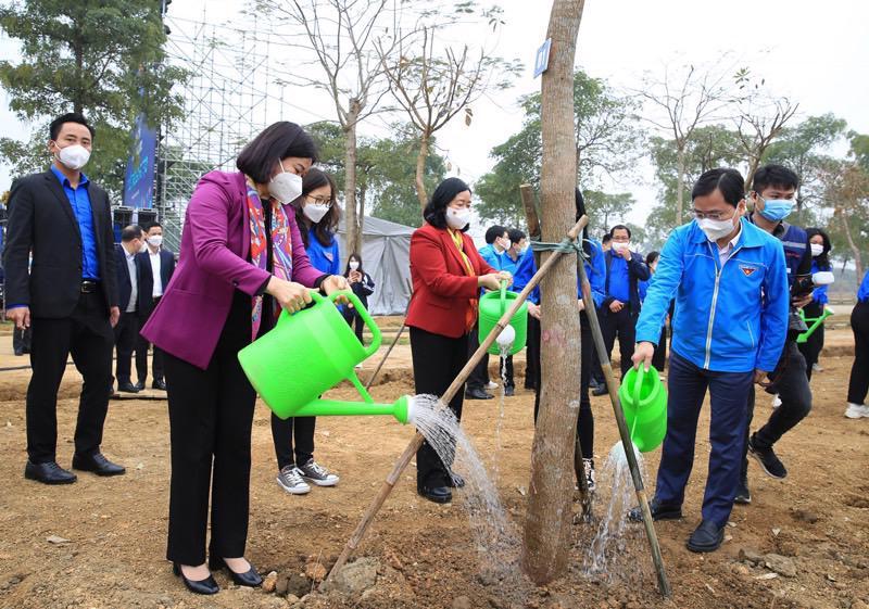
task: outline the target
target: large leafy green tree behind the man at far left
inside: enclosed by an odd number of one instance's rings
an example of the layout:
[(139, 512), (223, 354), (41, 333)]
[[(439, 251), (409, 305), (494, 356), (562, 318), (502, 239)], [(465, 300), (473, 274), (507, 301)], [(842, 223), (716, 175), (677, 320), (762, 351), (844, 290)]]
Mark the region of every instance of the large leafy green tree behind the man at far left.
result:
[(185, 71), (164, 63), (160, 2), (24, 0), (0, 7), (0, 27), (21, 43), (22, 61), (0, 61), (10, 109), (34, 124), (29, 141), (0, 138), (0, 157), (14, 172), (45, 170), (48, 124), (65, 112), (96, 127), (88, 176), (113, 198), (123, 190), (129, 130), (144, 113), (150, 125), (178, 118), (174, 83)]

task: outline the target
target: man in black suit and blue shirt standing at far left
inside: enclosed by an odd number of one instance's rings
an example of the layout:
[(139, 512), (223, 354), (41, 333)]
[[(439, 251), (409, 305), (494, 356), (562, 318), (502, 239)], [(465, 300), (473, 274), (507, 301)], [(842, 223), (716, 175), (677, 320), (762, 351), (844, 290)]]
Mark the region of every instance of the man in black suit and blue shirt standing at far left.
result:
[[(76, 477), (56, 462), (58, 389), (72, 354), (84, 377), (73, 468), (99, 475), (124, 473), (100, 452), (112, 380), (112, 327), (117, 322), (114, 239), (109, 196), (80, 172), (93, 129), (79, 114), (50, 126), (53, 164), (12, 185), (7, 225), (7, 317), (33, 328), (27, 389), (27, 466), (46, 484)], [(27, 263), (33, 251), (33, 267)]]

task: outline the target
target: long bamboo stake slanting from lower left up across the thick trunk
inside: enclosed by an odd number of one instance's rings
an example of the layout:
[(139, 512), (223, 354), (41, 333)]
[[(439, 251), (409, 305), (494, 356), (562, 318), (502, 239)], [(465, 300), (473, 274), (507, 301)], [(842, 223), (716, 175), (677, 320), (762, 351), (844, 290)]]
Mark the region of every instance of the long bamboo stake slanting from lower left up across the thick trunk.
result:
[[(567, 237), (570, 240), (576, 241), (577, 237), (582, 230), (582, 227), (584, 227), (588, 221), (589, 218), (587, 216), (579, 218), (579, 221), (574, 225), (574, 228), (570, 229), (570, 231), (567, 233)], [(492, 345), (501, 331), (509, 325), (511, 318), (516, 315), (516, 312), (519, 310), (519, 307), (526, 301), (528, 295), (533, 291), (538, 283), (540, 283), (540, 280), (544, 275), (546, 275), (546, 272), (549, 272), (552, 266), (558, 261), (561, 255), (562, 252), (553, 252), (546, 262), (544, 262), (540, 268), (538, 268), (538, 271), (533, 277), (531, 277), (528, 286), (526, 286), (525, 289), (519, 292), (519, 295), (516, 297), (516, 300), (512, 301), (511, 306), (504, 312), (504, 315), (501, 316), (501, 319), (498, 320), (498, 323), (495, 323), (494, 328), (492, 328), (492, 330), (489, 332), (489, 335), (487, 335), (486, 340), (480, 343), (480, 346), (476, 352), (474, 352), (474, 355), (470, 356), (470, 359), (468, 359), (467, 364), (465, 364), (465, 367), (462, 368), (462, 371), (458, 372), (458, 376), (443, 393), (440, 398), (441, 404), (449, 404), (453, 396), (455, 396), (456, 392), (463, 388), (465, 381), (470, 376), (470, 372), (477, 367), (477, 364), (480, 363), (480, 359), (482, 359), (482, 356), (486, 354), (488, 348)], [(423, 442), (426, 439), (421, 433), (416, 432), (413, 440), (411, 440), (411, 443), (407, 444), (407, 447), (401, 454), (399, 460), (395, 461), (395, 466), (392, 468), (392, 471), (389, 473), (389, 475), (387, 475), (382, 486), (380, 486), (380, 491), (375, 496), (371, 505), (368, 506), (368, 509), (363, 515), (362, 520), (356, 525), (356, 530), (353, 532), (353, 535), (351, 535), (350, 540), (348, 540), (344, 549), (341, 551), (338, 560), (332, 566), (329, 574), (326, 576), (323, 584), (320, 584), (320, 587), (325, 585), (326, 582), (330, 581), (336, 574), (338, 574), (350, 555), (358, 547), (360, 542), (362, 542), (362, 538), (365, 536), (365, 533), (374, 521), (375, 516), (377, 516), (377, 512), (380, 511), (380, 508), (383, 506), (387, 497), (392, 492), (392, 489), (394, 489), (395, 483), (399, 481), (402, 472), (411, 462), (411, 459), (414, 457), (414, 455), (416, 455), (416, 452), (419, 449), (419, 447), (423, 446)]]

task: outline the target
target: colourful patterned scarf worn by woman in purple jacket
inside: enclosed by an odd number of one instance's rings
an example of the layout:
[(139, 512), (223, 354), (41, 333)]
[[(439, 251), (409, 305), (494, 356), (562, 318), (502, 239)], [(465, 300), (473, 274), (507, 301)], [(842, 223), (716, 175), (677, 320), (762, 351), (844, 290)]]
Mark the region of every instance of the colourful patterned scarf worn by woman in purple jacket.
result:
[[(284, 205), (275, 201), (272, 205), (272, 274), (286, 281), (292, 278), (292, 234), (290, 233), (290, 220), (284, 211)], [(265, 233), (265, 213), (263, 202), (256, 189), (248, 183), (248, 219), (251, 230), (251, 263), (253, 266), (263, 270), (268, 270), (268, 241)], [(253, 309), (251, 312), (251, 341), (256, 340), (260, 331), (260, 322), (263, 314), (263, 296), (253, 296)], [(274, 307), (275, 319), (280, 315), (280, 306)]]

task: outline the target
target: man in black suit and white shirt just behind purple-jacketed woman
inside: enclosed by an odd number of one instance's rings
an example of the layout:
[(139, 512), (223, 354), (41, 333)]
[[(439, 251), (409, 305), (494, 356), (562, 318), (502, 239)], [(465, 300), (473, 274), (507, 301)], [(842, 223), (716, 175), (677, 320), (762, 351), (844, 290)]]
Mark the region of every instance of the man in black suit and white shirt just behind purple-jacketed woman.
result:
[[(148, 250), (139, 254), (141, 283), (139, 283), (139, 328), (144, 326), (151, 312), (163, 297), (163, 292), (169, 284), (169, 279), (175, 272), (175, 256), (163, 246), (163, 227), (160, 223), (151, 223), (146, 227), (146, 243)], [(144, 389), (148, 378), (148, 347), (150, 343), (139, 334), (136, 342), (136, 372), (139, 390)], [(154, 346), (154, 381), (152, 389), (166, 391), (166, 381), (163, 378), (163, 352)]]

